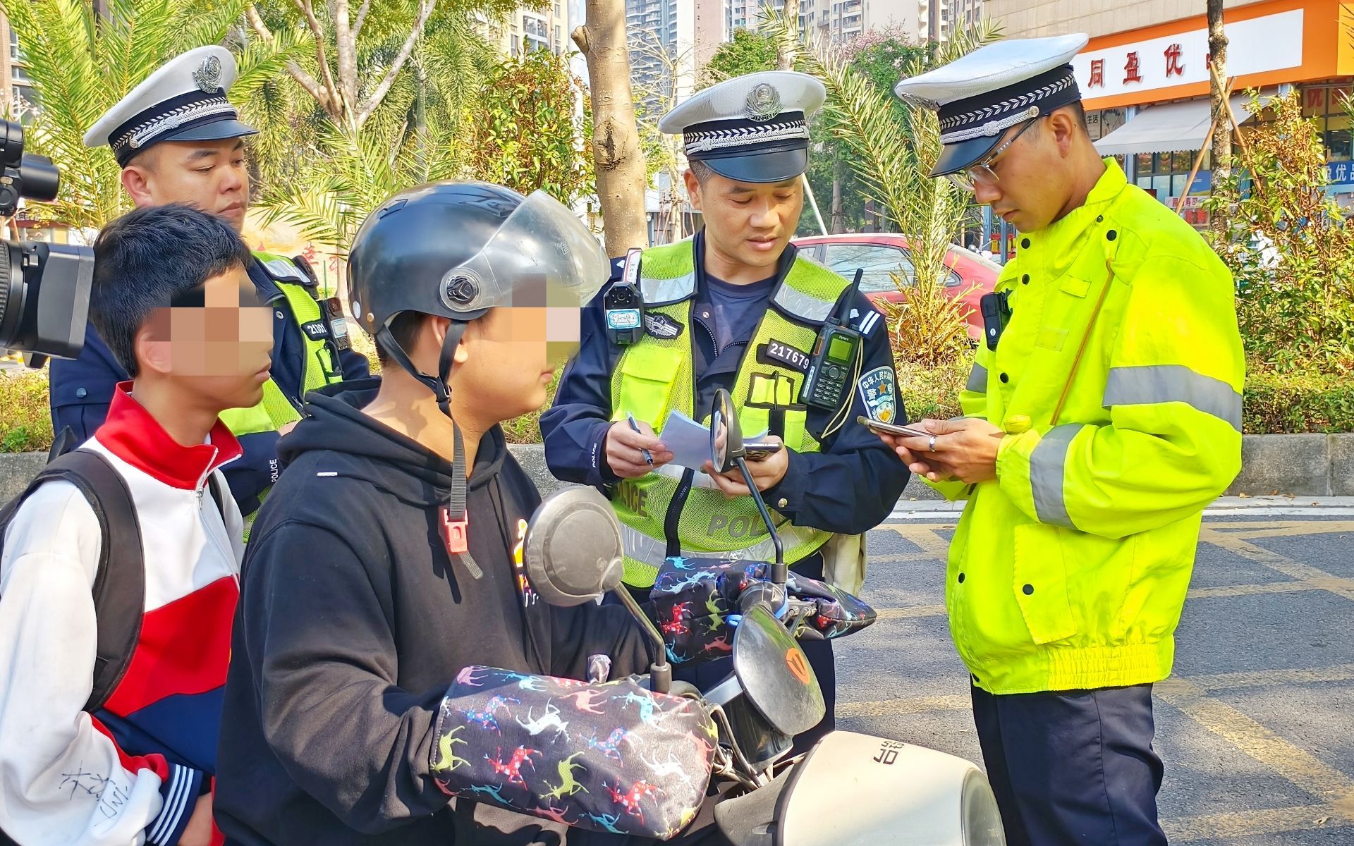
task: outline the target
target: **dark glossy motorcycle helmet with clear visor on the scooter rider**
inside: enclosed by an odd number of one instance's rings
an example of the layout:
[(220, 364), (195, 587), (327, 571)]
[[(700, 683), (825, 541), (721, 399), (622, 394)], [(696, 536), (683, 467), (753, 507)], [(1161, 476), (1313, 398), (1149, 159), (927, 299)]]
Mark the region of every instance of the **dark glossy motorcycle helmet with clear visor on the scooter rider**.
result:
[[(348, 256), (348, 298), (357, 325), (447, 413), (466, 324), (498, 306), (581, 307), (608, 275), (601, 245), (548, 194), (445, 181), (401, 191), (367, 218)], [(390, 333), (403, 311), (452, 319), (436, 376), (418, 372)]]

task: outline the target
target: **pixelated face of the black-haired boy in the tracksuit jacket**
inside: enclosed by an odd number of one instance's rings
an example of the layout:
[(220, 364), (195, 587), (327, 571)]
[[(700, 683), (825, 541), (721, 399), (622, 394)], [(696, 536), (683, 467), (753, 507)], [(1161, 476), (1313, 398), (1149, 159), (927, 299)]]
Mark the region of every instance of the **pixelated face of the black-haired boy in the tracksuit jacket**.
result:
[(263, 399), (272, 364), (272, 311), (236, 267), (157, 309), (137, 336), (137, 360), (142, 374), (175, 379), (203, 407), (249, 407)]

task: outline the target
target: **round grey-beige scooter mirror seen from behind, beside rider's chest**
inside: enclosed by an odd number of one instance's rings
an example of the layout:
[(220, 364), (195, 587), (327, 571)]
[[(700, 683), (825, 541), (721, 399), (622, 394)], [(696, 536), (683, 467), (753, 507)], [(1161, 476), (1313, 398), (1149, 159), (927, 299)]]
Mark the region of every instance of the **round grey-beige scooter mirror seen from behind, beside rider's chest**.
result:
[(620, 583), (620, 524), (593, 487), (546, 497), (527, 524), (521, 560), (527, 578), (551, 605), (592, 602)]

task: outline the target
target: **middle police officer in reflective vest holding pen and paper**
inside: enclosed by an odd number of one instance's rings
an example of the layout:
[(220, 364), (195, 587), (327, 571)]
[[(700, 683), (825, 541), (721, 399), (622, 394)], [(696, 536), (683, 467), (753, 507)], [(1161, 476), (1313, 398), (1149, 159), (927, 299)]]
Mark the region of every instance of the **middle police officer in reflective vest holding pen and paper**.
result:
[[(716, 388), (733, 394), (747, 436), (769, 432), (784, 445), (750, 468), (796, 571), (826, 571), (858, 590), (864, 532), (888, 517), (906, 485), (894, 452), (856, 422), (861, 414), (903, 417), (884, 319), (864, 296), (846, 309), (861, 342), (834, 365), (839, 397), (802, 395), (815, 341), (850, 287), (789, 244), (803, 208), (807, 120), (823, 99), (823, 85), (807, 74), (753, 73), (663, 116), (662, 131), (684, 135), (686, 190), (705, 226), (695, 238), (613, 263), (612, 284), (585, 310), (578, 356), (542, 417), (551, 471), (611, 495), (626, 583), (640, 594), (665, 555), (773, 556), (737, 471), (673, 464), (662, 443), (669, 413), (704, 421)], [(608, 310), (624, 299), (642, 299), (642, 317)], [(830, 644), (806, 643), (806, 651), (829, 711), (800, 746), (831, 730), (835, 684)], [(695, 681), (718, 681), (728, 671), (720, 663), (700, 667)]]

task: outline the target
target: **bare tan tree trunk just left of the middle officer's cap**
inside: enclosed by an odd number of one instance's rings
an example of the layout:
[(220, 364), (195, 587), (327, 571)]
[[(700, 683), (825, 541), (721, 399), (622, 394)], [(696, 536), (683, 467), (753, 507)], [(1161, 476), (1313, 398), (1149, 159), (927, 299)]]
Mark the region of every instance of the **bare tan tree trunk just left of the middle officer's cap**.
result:
[(632, 246), (649, 245), (645, 227), (645, 188), (649, 180), (630, 89), (626, 1), (588, 0), (585, 23), (574, 30), (573, 39), (588, 60), (593, 158), (607, 253), (624, 256)]

